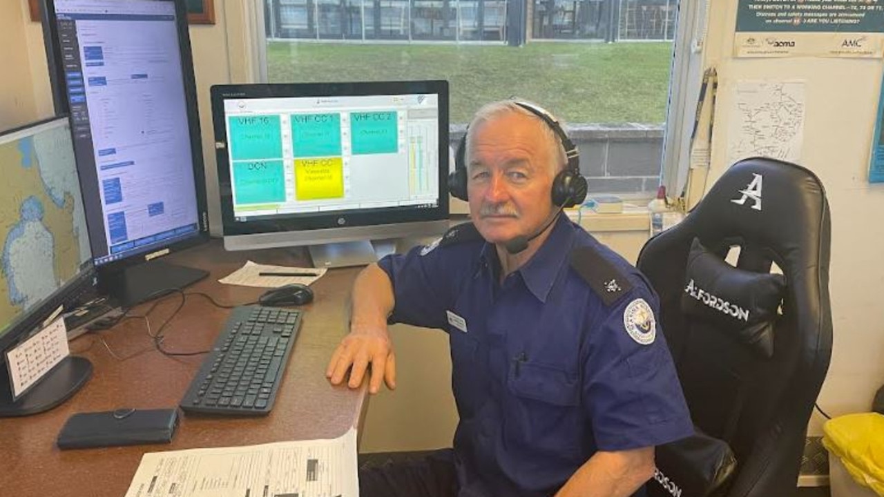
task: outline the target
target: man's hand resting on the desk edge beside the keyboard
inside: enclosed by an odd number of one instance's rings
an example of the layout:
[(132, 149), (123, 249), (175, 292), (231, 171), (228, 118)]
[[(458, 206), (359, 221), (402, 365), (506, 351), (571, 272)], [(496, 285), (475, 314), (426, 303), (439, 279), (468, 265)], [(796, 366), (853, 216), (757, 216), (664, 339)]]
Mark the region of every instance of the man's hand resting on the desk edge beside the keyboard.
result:
[(351, 366), (350, 380), (347, 382), (350, 388), (362, 385), (362, 377), (369, 367), (371, 394), (377, 394), (382, 380), (387, 388), (396, 388), (396, 355), (392, 351), (386, 323), (365, 326), (354, 324), (350, 334), (340, 341), (331, 355), (325, 377), (331, 380), (332, 385), (340, 385)]

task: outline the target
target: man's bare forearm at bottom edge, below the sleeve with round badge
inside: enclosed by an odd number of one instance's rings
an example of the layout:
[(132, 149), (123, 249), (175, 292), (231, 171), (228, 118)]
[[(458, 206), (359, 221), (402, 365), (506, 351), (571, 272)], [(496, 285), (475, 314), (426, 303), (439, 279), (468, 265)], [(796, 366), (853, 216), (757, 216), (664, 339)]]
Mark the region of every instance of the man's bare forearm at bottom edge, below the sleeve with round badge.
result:
[(556, 497), (629, 497), (653, 474), (653, 447), (597, 452), (575, 471)]

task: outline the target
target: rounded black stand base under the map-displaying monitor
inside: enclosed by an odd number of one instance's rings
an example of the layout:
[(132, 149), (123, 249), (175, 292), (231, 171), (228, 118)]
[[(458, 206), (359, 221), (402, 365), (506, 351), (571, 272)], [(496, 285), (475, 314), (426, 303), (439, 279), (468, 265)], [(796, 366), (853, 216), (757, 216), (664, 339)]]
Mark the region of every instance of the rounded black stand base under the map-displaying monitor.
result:
[(0, 364), (0, 417), (28, 416), (52, 409), (76, 394), (91, 377), (92, 363), (87, 358), (67, 356), (13, 401), (9, 371)]

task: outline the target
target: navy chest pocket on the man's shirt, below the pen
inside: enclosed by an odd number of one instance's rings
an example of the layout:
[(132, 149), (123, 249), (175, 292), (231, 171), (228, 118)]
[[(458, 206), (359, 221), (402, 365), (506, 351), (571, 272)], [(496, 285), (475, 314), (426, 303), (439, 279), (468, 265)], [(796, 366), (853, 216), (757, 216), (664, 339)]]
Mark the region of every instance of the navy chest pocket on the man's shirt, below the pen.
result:
[(575, 374), (553, 366), (518, 363), (507, 378), (507, 442), (537, 456), (578, 454), (585, 435)]

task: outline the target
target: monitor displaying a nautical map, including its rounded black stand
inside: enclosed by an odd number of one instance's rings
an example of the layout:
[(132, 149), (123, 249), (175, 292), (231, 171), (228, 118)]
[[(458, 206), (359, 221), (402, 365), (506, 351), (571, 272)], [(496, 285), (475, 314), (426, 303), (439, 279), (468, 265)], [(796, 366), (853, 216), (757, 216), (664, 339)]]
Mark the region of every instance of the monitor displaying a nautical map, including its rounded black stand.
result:
[(0, 133), (0, 170), (0, 416), (20, 416), (56, 406), (89, 377), (88, 360), (68, 357), (13, 399), (5, 353), (88, 292), (94, 268), (68, 119)]

